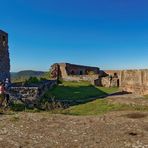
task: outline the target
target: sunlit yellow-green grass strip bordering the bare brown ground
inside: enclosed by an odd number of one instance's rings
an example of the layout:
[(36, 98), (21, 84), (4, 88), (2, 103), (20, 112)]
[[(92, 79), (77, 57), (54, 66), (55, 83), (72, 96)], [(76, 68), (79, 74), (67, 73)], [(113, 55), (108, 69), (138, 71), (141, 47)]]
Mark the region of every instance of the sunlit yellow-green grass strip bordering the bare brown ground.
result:
[(148, 108), (139, 105), (110, 104), (106, 99), (98, 99), (86, 104), (70, 107), (63, 110), (62, 113), (66, 115), (99, 115), (121, 110), (148, 111)]

